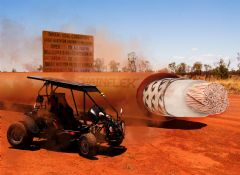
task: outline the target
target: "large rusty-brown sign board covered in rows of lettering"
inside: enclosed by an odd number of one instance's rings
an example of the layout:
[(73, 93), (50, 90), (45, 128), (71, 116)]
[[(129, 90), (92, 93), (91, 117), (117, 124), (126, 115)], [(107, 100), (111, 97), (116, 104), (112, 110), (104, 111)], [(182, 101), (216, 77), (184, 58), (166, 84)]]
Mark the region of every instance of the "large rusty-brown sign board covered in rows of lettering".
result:
[(93, 36), (43, 31), (44, 72), (89, 72), (93, 69)]

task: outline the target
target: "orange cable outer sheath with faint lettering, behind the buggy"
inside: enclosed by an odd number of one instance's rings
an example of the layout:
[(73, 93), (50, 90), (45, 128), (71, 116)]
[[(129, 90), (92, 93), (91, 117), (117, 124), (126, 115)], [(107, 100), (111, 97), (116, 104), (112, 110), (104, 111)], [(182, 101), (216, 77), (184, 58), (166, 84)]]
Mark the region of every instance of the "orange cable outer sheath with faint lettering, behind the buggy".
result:
[[(151, 73), (2, 73), (0, 74), (0, 99), (3, 102), (33, 105), (42, 81), (27, 79), (27, 76), (54, 77), (82, 83), (94, 84), (105, 93), (108, 100), (118, 110), (123, 108), (124, 115), (144, 118), (136, 99), (137, 89), (144, 78)], [(67, 92), (70, 94), (70, 91)], [(82, 98), (77, 93), (77, 104), (82, 106)], [(73, 106), (72, 99), (68, 101)], [(96, 101), (101, 101), (97, 94)], [(103, 103), (104, 104), (104, 103)], [(88, 106), (90, 107), (90, 106)], [(106, 106), (107, 107), (107, 106)]]

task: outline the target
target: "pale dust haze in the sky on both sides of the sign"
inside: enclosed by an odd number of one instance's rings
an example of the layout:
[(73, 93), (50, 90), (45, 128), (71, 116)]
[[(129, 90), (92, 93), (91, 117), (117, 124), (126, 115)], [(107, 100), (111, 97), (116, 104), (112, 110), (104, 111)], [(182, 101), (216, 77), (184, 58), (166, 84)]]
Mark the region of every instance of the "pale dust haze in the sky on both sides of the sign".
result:
[[(43, 29), (44, 30), (44, 29)], [(80, 30), (74, 26), (64, 25), (61, 32), (90, 34), (94, 36), (94, 58), (103, 58), (106, 66), (111, 60), (127, 65), (127, 54), (135, 51), (144, 57), (137, 39), (125, 41), (107, 29)], [(42, 64), (42, 31), (29, 34), (21, 23), (10, 19), (0, 20), (0, 71), (36, 72)]]

